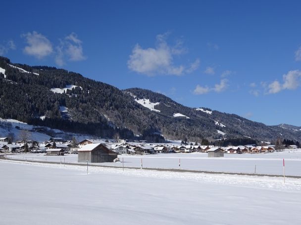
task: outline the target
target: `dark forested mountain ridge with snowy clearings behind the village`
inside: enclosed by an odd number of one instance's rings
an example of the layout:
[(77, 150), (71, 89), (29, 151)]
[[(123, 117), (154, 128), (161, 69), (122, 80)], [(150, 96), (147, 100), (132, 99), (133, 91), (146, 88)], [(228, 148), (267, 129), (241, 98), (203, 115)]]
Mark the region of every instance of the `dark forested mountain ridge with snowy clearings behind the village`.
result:
[[(301, 141), (295, 126), (267, 126), (236, 114), (183, 106), (163, 94), (118, 88), (46, 66), (0, 57), (0, 117), (74, 133), (162, 141), (243, 138)], [(2, 75), (1, 75), (2, 73)], [(295, 129), (296, 128), (296, 129)]]

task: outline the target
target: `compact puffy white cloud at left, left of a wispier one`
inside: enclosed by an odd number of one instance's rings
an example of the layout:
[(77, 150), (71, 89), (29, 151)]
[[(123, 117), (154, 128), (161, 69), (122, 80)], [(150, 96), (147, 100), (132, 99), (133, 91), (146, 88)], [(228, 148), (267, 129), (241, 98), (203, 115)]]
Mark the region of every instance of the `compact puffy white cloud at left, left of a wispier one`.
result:
[(28, 44), (23, 49), (25, 54), (41, 59), (50, 55), (53, 51), (50, 40), (42, 34), (34, 31), (23, 34), (22, 37), (26, 39), (26, 43)]

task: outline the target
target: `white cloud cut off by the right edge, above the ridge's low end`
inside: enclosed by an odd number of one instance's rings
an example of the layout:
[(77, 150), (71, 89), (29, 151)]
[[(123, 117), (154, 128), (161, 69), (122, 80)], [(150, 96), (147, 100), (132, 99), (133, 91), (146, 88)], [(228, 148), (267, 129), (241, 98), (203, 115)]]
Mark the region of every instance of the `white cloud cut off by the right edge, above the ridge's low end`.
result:
[(287, 74), (283, 75), (283, 84), (278, 80), (273, 81), (268, 85), (268, 93), (276, 94), (282, 90), (295, 90), (300, 86), (301, 71), (289, 71)]

